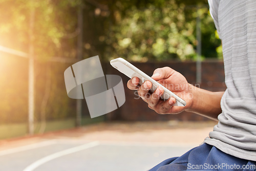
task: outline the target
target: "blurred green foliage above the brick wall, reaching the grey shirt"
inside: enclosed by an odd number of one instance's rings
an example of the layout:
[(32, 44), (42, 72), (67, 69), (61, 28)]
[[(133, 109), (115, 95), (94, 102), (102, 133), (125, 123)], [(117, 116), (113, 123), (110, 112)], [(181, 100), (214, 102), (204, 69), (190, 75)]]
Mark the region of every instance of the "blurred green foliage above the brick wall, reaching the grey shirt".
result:
[(110, 16), (93, 20), (94, 23), (103, 20), (105, 27), (84, 37), (96, 39), (87, 42), (90, 45), (85, 49), (87, 55), (98, 49), (107, 60), (116, 57), (131, 61), (193, 60), (197, 55), (196, 26), (200, 17), (202, 57), (219, 56), (216, 48), (221, 41), (215, 36), (205, 1), (115, 1), (108, 6)]

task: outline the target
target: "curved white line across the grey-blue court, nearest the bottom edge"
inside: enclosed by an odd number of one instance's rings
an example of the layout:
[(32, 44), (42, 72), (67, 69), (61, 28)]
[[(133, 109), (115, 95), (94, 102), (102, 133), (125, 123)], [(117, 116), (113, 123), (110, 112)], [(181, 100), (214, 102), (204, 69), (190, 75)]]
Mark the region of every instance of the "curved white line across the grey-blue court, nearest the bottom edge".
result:
[(91, 148), (91, 147), (94, 147), (94, 146), (97, 146), (97, 145), (99, 145), (99, 142), (98, 141), (93, 141), (93, 142), (90, 142), (90, 143), (86, 143), (86, 144), (83, 144), (83, 145), (79, 145), (79, 146), (76, 146), (76, 147), (65, 149), (65, 150), (57, 152), (57, 153), (53, 153), (49, 156), (46, 156), (44, 158), (41, 158), (41, 159), (35, 161), (34, 163), (27, 166), (23, 171), (32, 171), (35, 168), (37, 168), (38, 166), (40, 166), (40, 165), (42, 165), (42, 164), (44, 164), (44, 163), (46, 163), (50, 160), (53, 160), (53, 159), (56, 159), (58, 157), (65, 156), (65, 155), (68, 155), (68, 154), (71, 154), (71, 153), (79, 152), (79, 151), (82, 151), (83, 149), (88, 149), (88, 148)]

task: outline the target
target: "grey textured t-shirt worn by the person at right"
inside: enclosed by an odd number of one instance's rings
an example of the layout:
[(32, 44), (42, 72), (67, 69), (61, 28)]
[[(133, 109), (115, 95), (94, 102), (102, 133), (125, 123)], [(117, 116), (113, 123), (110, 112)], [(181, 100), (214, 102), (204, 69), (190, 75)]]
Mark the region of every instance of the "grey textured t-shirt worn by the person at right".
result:
[(256, 161), (256, 1), (208, 2), (222, 39), (227, 89), (219, 122), (204, 142)]

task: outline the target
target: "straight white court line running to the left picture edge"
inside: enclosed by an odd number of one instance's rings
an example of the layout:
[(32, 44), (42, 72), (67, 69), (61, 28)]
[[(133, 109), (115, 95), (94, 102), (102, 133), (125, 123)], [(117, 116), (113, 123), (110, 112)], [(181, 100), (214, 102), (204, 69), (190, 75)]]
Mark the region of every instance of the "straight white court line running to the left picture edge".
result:
[(18, 153), (18, 152), (24, 152), (29, 149), (47, 146), (47, 145), (51, 145), (54, 143), (56, 143), (56, 140), (48, 140), (48, 141), (42, 141), (42, 142), (24, 145), (24, 146), (20, 146), (20, 147), (16, 147), (16, 148), (5, 149), (3, 151), (0, 151), (0, 156), (9, 155), (9, 154)]

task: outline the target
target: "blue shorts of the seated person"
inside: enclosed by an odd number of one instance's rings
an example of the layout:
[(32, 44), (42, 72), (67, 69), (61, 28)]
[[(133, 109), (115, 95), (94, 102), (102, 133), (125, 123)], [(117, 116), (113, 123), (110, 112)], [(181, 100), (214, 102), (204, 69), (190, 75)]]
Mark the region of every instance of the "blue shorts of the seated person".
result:
[(215, 146), (202, 144), (190, 149), (181, 157), (174, 157), (159, 163), (150, 171), (167, 170), (256, 170), (256, 161), (244, 160), (220, 151)]

